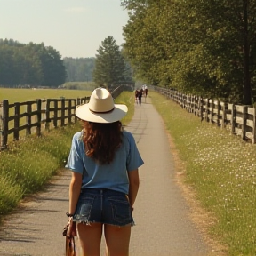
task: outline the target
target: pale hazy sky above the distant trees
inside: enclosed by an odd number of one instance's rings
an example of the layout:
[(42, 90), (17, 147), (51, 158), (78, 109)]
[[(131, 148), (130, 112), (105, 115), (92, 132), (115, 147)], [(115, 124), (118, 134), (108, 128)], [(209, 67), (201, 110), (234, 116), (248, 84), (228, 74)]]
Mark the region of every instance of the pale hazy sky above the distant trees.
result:
[(124, 43), (121, 0), (0, 0), (0, 38), (44, 43), (62, 58), (95, 57), (102, 41)]

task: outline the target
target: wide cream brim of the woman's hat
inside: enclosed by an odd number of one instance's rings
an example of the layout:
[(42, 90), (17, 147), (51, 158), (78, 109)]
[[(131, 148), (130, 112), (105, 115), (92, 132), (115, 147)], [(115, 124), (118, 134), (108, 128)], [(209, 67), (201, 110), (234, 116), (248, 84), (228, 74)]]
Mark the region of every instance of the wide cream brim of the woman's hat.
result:
[(107, 113), (95, 113), (89, 109), (88, 103), (76, 108), (76, 116), (84, 121), (94, 123), (114, 123), (121, 120), (128, 111), (124, 104), (115, 104), (115, 108)]

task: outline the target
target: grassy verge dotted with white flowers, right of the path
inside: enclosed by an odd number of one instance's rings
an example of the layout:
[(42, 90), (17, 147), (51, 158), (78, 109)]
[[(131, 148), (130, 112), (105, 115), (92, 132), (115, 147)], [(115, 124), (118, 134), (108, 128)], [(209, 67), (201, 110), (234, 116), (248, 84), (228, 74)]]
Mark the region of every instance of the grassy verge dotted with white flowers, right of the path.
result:
[(150, 92), (186, 166), (185, 183), (216, 221), (209, 235), (228, 255), (256, 254), (256, 148), (216, 125), (200, 122), (172, 100)]

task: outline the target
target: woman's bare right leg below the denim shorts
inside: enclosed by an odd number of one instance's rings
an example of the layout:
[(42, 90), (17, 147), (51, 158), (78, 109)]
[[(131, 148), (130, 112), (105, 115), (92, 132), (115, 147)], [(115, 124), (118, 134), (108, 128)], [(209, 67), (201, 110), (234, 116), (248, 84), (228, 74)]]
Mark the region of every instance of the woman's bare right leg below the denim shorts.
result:
[(108, 256), (128, 256), (131, 236), (131, 225), (118, 227), (104, 225)]

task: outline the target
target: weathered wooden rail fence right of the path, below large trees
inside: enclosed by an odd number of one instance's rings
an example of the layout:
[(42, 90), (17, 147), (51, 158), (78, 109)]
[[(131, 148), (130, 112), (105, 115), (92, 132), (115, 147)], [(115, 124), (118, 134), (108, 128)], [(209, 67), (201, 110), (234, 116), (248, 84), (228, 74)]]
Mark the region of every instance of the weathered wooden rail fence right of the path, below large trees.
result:
[(256, 109), (252, 106), (204, 99), (156, 86), (152, 86), (152, 89), (176, 101), (181, 108), (199, 116), (201, 121), (216, 124), (240, 136), (242, 140), (250, 141), (252, 144), (256, 143)]

